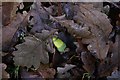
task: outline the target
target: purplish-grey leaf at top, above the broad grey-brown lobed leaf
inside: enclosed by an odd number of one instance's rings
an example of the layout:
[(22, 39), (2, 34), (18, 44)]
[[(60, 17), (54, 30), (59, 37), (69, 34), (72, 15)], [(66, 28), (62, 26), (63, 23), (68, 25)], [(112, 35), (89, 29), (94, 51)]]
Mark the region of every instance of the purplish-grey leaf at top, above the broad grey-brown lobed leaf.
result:
[(33, 16), (33, 28), (31, 33), (42, 32), (42, 30), (50, 30), (50, 26), (45, 24), (46, 20), (49, 18), (48, 13), (41, 7), (40, 2), (34, 4), (32, 7), (31, 16)]

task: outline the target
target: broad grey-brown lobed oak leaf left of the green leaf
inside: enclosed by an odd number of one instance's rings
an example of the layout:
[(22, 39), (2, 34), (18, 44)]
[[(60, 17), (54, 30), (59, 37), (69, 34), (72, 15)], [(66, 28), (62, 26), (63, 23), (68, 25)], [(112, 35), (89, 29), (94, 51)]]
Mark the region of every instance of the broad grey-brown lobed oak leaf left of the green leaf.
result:
[[(38, 38), (35, 36), (25, 37), (25, 42), (16, 46), (18, 51), (13, 52), (13, 54), (15, 55), (15, 63), (27, 67), (31, 67), (33, 65), (35, 68), (39, 67), (40, 62), (44, 64), (48, 63), (49, 56), (47, 49), (48, 45), (46, 44), (46, 41), (49, 40), (47, 38), (49, 38), (49, 34), (51, 32), (43, 31), (43, 33), (37, 33), (36, 36)], [(43, 35), (44, 37), (42, 37)], [(54, 50), (52, 49), (53, 48), (51, 47), (49, 51), (53, 52)]]

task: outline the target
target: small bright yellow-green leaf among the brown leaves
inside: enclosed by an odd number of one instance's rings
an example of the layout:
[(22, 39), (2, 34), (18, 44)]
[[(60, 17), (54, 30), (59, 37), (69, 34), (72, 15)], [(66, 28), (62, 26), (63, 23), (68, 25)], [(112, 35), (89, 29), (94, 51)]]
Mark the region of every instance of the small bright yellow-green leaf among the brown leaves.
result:
[(53, 43), (54, 45), (57, 47), (59, 52), (64, 52), (65, 48), (66, 48), (66, 44), (59, 38), (57, 37), (53, 37)]

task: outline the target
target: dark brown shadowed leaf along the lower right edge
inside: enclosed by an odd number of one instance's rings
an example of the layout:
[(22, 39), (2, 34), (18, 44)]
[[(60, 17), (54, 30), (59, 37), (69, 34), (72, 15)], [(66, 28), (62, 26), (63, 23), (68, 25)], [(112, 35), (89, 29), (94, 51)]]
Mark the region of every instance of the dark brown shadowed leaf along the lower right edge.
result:
[(110, 51), (112, 53), (112, 57), (109, 60), (109, 63), (101, 63), (98, 68), (99, 75), (102, 76), (108, 76), (110, 75), (114, 70), (116, 70), (119, 67), (120, 64), (120, 58), (119, 58), (119, 40), (120, 36), (116, 36), (115, 43), (110, 43)]

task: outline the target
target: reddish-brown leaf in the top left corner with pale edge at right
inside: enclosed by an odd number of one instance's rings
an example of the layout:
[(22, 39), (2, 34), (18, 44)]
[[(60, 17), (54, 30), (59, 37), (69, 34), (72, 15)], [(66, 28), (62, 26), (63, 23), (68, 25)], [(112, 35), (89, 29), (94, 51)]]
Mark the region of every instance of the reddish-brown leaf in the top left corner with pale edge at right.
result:
[(2, 2), (2, 24), (9, 24), (16, 16), (18, 2)]

